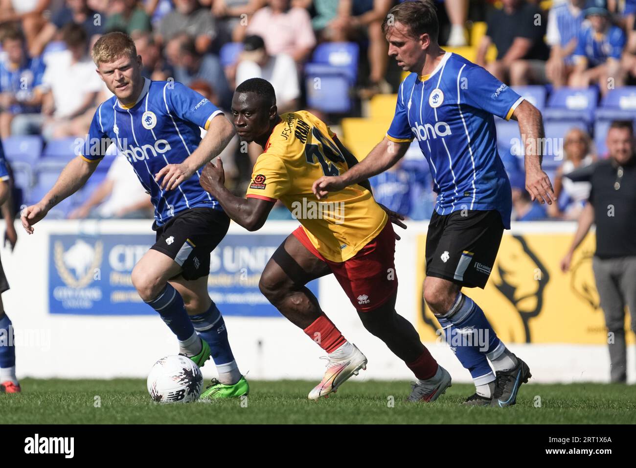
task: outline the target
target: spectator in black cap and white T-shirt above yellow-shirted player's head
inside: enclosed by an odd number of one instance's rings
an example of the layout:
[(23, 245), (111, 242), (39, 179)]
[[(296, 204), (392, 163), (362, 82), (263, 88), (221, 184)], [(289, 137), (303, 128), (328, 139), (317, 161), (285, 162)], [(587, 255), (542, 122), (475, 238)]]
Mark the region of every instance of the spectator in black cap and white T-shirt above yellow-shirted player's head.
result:
[(286, 53), (269, 55), (261, 36), (247, 36), (237, 67), (237, 86), (249, 78), (263, 78), (272, 83), (279, 114), (298, 110), (300, 85), (294, 59)]

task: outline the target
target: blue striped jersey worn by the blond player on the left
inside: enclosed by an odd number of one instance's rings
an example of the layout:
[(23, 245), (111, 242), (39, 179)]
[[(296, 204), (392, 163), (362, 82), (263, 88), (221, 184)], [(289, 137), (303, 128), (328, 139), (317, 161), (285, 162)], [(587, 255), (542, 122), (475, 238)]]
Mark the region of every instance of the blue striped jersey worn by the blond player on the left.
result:
[(207, 130), (221, 110), (205, 97), (178, 82), (151, 82), (144, 78), (137, 103), (124, 107), (116, 96), (100, 104), (83, 148), (86, 160), (99, 160), (109, 141), (116, 143), (155, 205), (160, 226), (188, 208), (209, 206), (222, 209), (199, 185), (198, 170), (179, 187), (165, 191), (155, 174), (167, 164), (183, 162), (201, 141), (199, 127)]

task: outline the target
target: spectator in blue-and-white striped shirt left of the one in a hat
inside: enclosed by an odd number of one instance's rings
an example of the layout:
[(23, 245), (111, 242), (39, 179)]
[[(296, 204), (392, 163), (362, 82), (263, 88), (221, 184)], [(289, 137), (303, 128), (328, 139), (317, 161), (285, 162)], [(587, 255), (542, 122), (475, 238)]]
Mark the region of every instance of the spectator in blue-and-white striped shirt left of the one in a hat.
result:
[(567, 0), (554, 5), (548, 13), (546, 42), (551, 50), (546, 77), (555, 88), (565, 86), (574, 69), (574, 50), (583, 24), (584, 7), (585, 0)]

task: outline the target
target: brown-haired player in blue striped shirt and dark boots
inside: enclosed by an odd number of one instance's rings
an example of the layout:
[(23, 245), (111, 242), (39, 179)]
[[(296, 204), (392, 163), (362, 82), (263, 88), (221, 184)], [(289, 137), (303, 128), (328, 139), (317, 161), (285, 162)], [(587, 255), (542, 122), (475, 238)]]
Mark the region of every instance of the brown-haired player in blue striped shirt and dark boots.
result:
[[(526, 188), (533, 200), (551, 204), (541, 145), (533, 144), (543, 141), (543, 121), (532, 104), (485, 69), (442, 50), (438, 30), (431, 1), (408, 1), (389, 11), (383, 25), (389, 56), (411, 72), (399, 86), (391, 127), (360, 164), (316, 180), (313, 190), (321, 197), (381, 173), (417, 139), (437, 194), (426, 238), (424, 299), (473, 377), (476, 392), (466, 404), (509, 406), (530, 378), (529, 367), (506, 348), (462, 287), (485, 287), (510, 228), (511, 188), (497, 153), (494, 115), (518, 120), (526, 141)], [(464, 339), (466, 330), (474, 339)]]

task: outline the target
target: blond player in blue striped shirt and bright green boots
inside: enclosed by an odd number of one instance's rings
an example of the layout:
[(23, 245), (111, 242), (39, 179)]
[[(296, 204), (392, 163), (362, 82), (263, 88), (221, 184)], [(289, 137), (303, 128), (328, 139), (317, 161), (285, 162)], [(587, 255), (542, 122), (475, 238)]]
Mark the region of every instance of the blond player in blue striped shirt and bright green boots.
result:
[[(219, 378), (202, 398), (245, 395), (249, 386), (207, 291), (210, 253), (225, 236), (230, 218), (199, 185), (202, 166), (232, 139), (232, 124), (183, 84), (144, 78), (141, 56), (123, 32), (99, 38), (92, 57), (114, 96), (97, 107), (81, 154), (41, 201), (24, 209), (22, 225), (32, 234), (33, 225), (79, 190), (111, 143), (116, 145), (155, 206), (156, 242), (135, 265), (133, 285), (175, 334), (181, 354), (200, 366), (214, 360)], [(207, 130), (203, 139), (200, 127)]]

